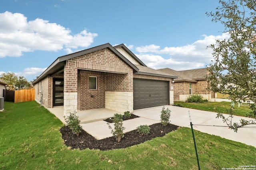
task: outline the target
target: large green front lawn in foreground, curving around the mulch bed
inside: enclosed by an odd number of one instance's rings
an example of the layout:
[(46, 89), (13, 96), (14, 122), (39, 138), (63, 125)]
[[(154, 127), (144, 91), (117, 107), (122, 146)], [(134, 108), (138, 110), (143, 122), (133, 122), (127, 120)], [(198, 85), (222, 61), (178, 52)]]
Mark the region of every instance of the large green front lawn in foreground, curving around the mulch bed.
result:
[[(5, 102), (4, 109), (0, 112), (3, 170), (197, 169), (191, 129), (186, 127), (126, 149), (70, 150), (59, 132), (62, 122), (35, 101)], [(238, 168), (256, 162), (255, 147), (199, 131), (194, 134), (201, 169)]]

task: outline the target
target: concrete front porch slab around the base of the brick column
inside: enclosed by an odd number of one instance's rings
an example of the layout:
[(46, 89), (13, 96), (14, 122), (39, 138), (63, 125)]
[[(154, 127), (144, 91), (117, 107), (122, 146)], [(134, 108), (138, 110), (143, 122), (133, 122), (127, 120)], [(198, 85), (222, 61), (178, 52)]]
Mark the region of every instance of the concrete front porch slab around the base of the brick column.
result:
[[(47, 108), (52, 114), (54, 114), (60, 121), (65, 123), (65, 119), (63, 116), (64, 108), (63, 106)], [(119, 113), (114, 110), (110, 109), (92, 109), (92, 110), (84, 110), (84, 111), (77, 111), (77, 115), (79, 116), (79, 120), (81, 121), (80, 124), (90, 123), (95, 121), (101, 121), (107, 119), (109, 117), (113, 117), (115, 113)]]

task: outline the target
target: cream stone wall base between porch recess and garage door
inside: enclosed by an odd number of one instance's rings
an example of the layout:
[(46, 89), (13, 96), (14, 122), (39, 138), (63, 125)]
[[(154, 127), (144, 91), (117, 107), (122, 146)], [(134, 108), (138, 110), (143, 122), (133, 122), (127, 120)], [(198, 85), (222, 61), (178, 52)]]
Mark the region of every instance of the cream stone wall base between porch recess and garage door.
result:
[(133, 92), (106, 92), (106, 109), (118, 112), (133, 111)]

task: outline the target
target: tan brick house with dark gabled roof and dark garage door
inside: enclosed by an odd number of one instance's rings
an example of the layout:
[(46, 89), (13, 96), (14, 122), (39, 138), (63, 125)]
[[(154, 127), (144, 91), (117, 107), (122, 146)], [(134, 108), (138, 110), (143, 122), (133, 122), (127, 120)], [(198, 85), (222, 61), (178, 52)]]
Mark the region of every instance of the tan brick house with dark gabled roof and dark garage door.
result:
[[(74, 110), (118, 112), (173, 104), (172, 80), (148, 68), (124, 44), (109, 43), (58, 57), (34, 82), (36, 101)], [(42, 100), (41, 100), (42, 95)]]

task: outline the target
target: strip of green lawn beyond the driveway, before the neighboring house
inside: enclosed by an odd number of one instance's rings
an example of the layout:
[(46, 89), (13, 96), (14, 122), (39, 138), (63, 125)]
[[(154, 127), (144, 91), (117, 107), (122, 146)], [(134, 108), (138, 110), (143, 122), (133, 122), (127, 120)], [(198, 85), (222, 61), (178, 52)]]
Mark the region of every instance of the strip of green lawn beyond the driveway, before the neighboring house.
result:
[[(179, 102), (175, 101), (174, 105), (179, 105), (191, 109), (213, 111), (217, 113), (226, 113), (229, 114), (231, 102), (204, 102), (204, 103), (188, 103), (188, 102)], [(236, 104), (234, 106), (234, 115), (246, 116), (252, 110), (247, 104), (242, 104), (240, 107)]]

